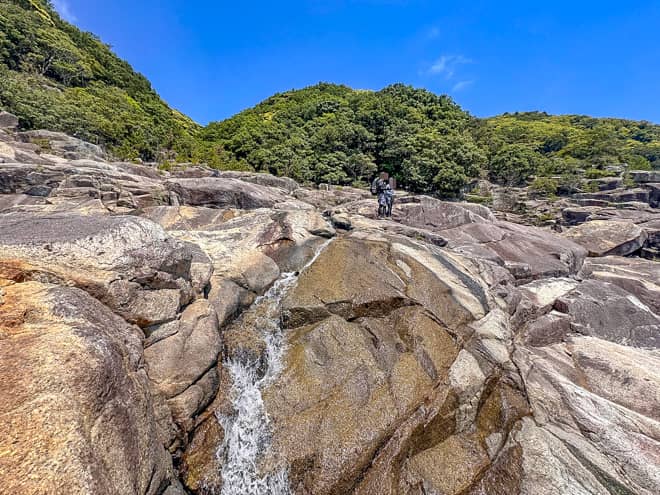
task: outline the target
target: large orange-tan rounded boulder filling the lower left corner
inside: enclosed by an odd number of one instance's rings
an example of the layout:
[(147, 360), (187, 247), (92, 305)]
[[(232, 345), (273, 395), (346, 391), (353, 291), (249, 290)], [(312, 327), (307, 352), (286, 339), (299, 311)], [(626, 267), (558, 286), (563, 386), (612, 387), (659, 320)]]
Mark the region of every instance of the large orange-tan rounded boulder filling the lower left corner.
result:
[(171, 460), (140, 330), (79, 289), (26, 282), (0, 291), (2, 491), (162, 493)]

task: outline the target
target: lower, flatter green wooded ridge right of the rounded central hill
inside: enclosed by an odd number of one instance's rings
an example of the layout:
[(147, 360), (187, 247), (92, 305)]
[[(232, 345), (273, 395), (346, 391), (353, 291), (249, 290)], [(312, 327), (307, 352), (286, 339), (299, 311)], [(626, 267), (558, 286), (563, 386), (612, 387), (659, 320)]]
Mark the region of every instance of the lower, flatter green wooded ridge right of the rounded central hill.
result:
[(582, 169), (587, 178), (606, 177), (613, 165), (660, 168), (660, 126), (644, 121), (515, 113), (481, 120), (475, 136), (487, 150), (491, 179), (502, 184)]

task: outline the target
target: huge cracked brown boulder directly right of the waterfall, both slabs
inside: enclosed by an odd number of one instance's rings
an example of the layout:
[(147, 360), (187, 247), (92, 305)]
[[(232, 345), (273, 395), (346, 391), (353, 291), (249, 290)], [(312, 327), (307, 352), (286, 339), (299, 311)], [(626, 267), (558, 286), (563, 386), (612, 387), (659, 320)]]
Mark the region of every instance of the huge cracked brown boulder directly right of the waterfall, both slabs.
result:
[[(459, 489), (490, 463), (478, 438), (507, 422), (463, 433), (480, 398), (488, 402), (487, 376), (460, 351), (473, 332), (467, 325), (489, 311), (474, 269), (403, 238), (351, 235), (302, 273), (283, 301), (291, 328), (284, 370), (265, 391), (268, 465), (290, 466), (295, 493)], [(518, 392), (494, 387), (496, 414), (500, 393), (510, 394), (512, 416), (524, 414), (523, 400), (513, 405)], [(465, 463), (461, 480), (452, 464), (435, 462), (442, 449)]]

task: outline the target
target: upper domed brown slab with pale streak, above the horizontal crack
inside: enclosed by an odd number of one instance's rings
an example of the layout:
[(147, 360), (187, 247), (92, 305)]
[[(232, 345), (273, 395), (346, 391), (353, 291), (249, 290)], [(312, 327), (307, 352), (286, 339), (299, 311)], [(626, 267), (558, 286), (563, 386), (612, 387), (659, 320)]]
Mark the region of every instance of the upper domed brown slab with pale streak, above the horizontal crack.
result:
[(449, 253), (396, 239), (359, 234), (333, 242), (285, 299), (287, 326), (330, 314), (383, 316), (414, 304), (424, 305), (451, 328), (484, 316), (489, 303), (484, 287), (470, 274), (474, 267)]

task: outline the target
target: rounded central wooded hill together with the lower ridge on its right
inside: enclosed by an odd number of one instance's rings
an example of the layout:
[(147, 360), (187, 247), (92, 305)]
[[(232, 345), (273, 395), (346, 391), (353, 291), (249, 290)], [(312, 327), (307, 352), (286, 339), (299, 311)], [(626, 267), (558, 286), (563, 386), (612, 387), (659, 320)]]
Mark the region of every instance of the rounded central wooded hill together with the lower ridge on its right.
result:
[(322, 83), (277, 94), (210, 124), (201, 139), (221, 167), (334, 184), (385, 169), (406, 188), (444, 196), (480, 176), (571, 183), (577, 174), (611, 174), (611, 165), (660, 168), (658, 125), (539, 112), (476, 119), (447, 96), (401, 84), (374, 92)]

